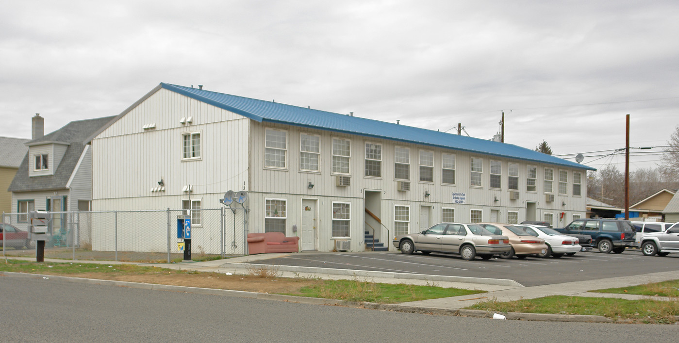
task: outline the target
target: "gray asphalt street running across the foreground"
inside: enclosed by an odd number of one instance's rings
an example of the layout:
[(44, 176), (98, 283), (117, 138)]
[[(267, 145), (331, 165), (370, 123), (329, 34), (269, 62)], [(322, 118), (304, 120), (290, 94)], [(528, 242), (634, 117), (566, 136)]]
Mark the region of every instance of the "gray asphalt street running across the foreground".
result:
[(3, 342), (674, 342), (676, 325), (433, 316), (0, 276)]

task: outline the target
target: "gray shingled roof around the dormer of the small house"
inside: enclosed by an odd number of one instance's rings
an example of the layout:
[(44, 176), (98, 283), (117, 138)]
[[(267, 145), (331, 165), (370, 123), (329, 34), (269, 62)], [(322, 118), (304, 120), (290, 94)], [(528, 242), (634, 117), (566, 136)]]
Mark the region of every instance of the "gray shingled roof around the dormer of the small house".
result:
[(64, 157), (56, 167), (54, 175), (46, 175), (41, 177), (29, 177), (29, 154), (26, 153), (24, 159), (16, 172), (10, 188), (10, 192), (32, 192), (32, 191), (48, 191), (56, 189), (64, 189), (66, 183), (73, 173), (73, 169), (77, 164), (80, 155), (82, 154), (85, 145), (89, 143), (86, 141), (92, 133), (99, 128), (105, 126), (115, 117), (104, 117), (89, 120), (78, 120), (70, 122), (66, 126), (46, 134), (44, 137), (29, 141), (26, 145), (33, 145), (41, 142), (62, 142), (69, 143)]

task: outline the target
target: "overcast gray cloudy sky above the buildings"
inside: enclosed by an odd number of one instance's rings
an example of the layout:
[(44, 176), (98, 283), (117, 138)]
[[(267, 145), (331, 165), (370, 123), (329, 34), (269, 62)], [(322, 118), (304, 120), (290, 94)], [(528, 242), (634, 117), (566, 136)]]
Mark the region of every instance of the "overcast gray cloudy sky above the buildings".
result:
[(45, 133), (117, 115), (160, 82), (481, 139), (504, 110), (505, 142), (555, 155), (625, 147), (627, 113), (632, 147), (679, 124), (676, 0), (0, 1), (5, 137), (35, 113)]

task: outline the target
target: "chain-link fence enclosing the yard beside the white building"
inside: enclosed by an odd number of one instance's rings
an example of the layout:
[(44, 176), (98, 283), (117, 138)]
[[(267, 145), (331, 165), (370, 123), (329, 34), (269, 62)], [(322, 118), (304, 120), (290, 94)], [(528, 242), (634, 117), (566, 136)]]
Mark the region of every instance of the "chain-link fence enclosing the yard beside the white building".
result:
[[(111, 261), (181, 261), (178, 219), (186, 210), (51, 212), (45, 258)], [(247, 209), (191, 211), (191, 258), (245, 255)], [(2, 216), (4, 255), (35, 257), (28, 213)]]

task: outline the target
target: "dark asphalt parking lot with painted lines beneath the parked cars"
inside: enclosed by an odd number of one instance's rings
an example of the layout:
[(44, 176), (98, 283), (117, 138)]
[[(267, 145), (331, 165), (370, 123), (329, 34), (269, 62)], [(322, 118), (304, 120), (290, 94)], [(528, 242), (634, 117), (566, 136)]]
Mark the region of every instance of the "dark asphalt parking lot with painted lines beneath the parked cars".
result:
[(677, 270), (679, 254), (669, 254), (666, 257), (648, 257), (638, 250), (628, 249), (621, 254), (580, 252), (573, 256), (561, 258), (527, 257), (526, 259), (518, 259), (513, 257), (512, 259), (500, 259), (494, 257), (490, 260), (477, 258), (473, 261), (465, 261), (459, 255), (438, 253), (431, 253), (430, 255), (420, 253), (404, 255), (400, 252), (304, 253), (275, 259), (263, 259), (252, 263), (424, 275), (502, 278), (517, 281), (524, 286), (537, 286)]

